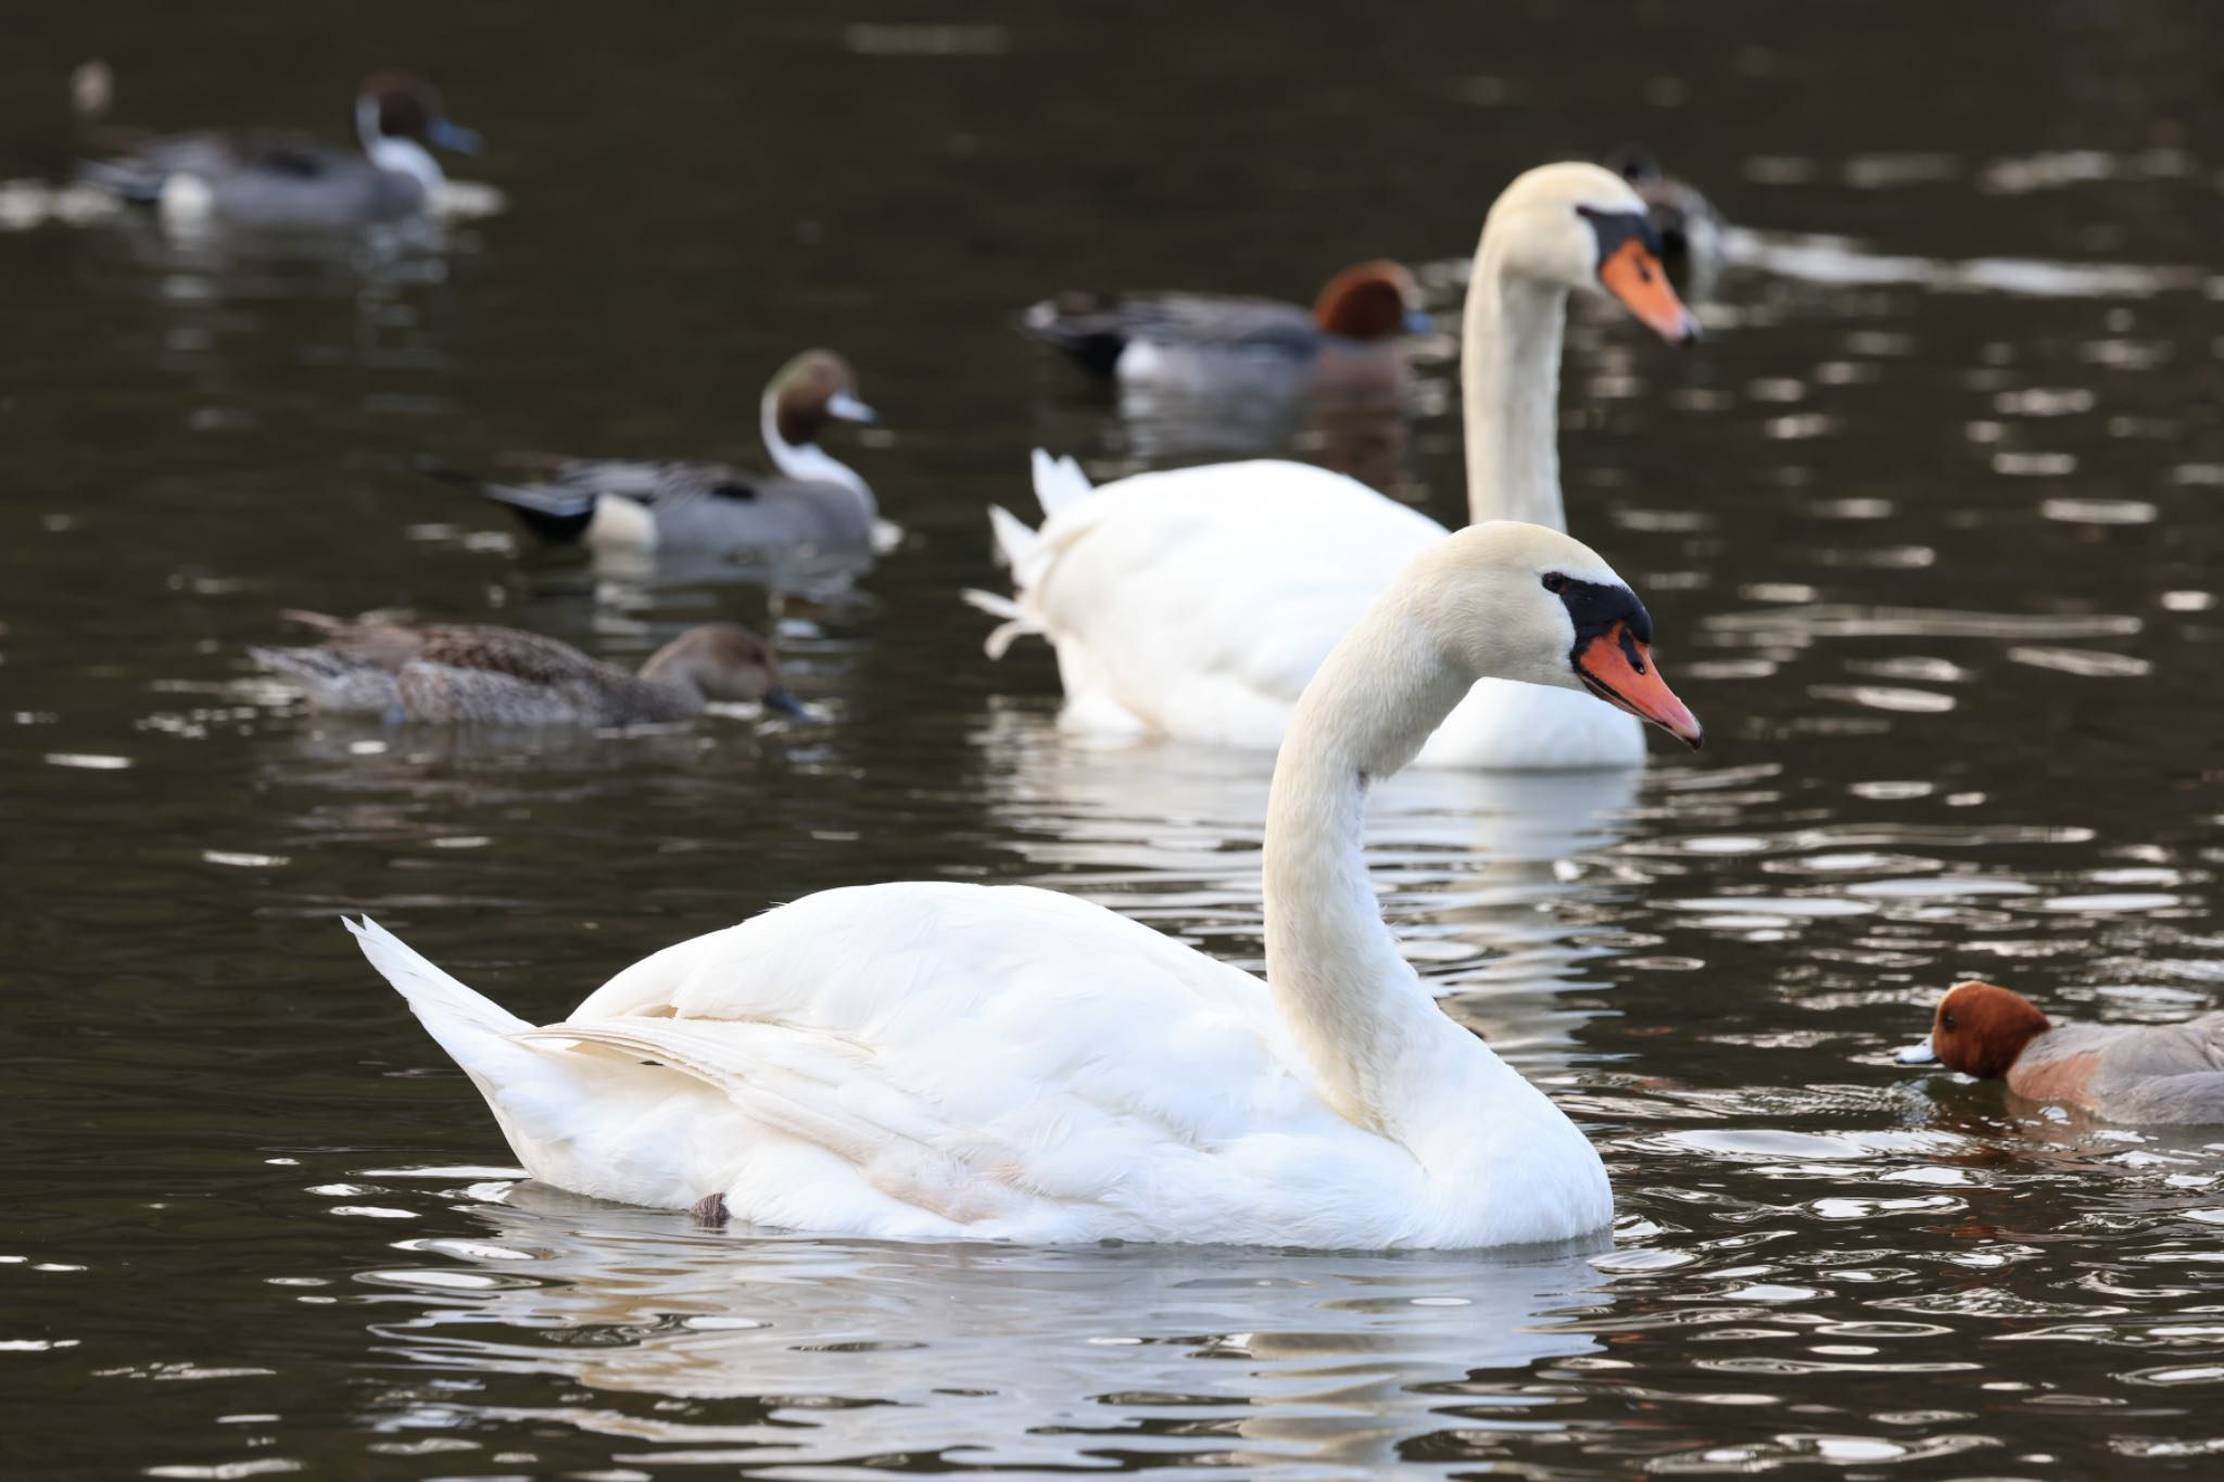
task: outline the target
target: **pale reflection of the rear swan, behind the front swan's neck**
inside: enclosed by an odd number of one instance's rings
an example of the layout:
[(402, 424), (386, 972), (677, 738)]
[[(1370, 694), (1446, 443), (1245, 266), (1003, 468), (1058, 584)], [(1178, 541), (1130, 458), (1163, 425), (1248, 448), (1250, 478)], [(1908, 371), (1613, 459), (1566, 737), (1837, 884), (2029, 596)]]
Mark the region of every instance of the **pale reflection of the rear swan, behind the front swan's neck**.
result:
[[(1050, 715), (1003, 707), (976, 742), (987, 804), (1039, 884), (1148, 922), (1181, 922), (1221, 958), (1259, 955), (1259, 842), (1272, 758), (1183, 742), (1074, 744)], [(1597, 871), (1641, 773), (1412, 769), (1374, 789), (1368, 862), (1399, 947), (1492, 1049), (1557, 1064), (1575, 1020), (1559, 991), (1604, 947)], [(1604, 887), (1619, 889), (1619, 887)], [(1170, 927), (1165, 927), (1170, 929)]]

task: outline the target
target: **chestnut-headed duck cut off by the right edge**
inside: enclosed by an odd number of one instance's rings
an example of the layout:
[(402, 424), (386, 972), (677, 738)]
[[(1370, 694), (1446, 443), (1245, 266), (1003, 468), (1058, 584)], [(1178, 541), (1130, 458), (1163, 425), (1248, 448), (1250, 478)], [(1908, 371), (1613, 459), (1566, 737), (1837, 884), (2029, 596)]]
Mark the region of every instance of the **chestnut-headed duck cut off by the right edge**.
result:
[(2224, 1013), (2184, 1024), (2055, 1024), (2013, 989), (1957, 982), (1930, 1035), (1899, 1051), (1899, 1064), (1933, 1062), (2111, 1122), (2224, 1124)]

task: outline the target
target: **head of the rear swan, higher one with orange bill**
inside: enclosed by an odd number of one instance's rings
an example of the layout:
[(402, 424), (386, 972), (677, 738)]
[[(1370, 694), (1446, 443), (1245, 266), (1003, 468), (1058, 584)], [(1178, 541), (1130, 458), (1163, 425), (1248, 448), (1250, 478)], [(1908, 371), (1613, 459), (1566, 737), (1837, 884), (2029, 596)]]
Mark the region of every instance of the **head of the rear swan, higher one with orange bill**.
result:
[(1699, 338), (1699, 320), (1661, 267), (1661, 238), (1644, 198), (1601, 164), (1539, 164), (1517, 176), (1483, 222), (1483, 256), (1501, 276), (1604, 289), (1664, 340)]

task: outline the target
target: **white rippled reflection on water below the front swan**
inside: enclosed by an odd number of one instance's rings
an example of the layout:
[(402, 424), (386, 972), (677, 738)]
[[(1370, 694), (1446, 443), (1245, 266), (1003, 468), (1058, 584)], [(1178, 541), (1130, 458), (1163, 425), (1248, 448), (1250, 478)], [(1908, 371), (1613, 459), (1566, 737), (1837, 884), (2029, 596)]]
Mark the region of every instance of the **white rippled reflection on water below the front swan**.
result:
[(423, 1264), (358, 1278), (423, 1293), (376, 1333), (443, 1375), (400, 1384), (374, 1422), (516, 1420), (500, 1375), (554, 1375), (592, 1395), (534, 1422), (618, 1438), (634, 1464), (950, 1451), (1065, 1469), (1116, 1444), (1219, 1475), (1390, 1469), (1457, 1424), (1477, 1371), (1592, 1351), (1555, 1320), (1604, 1302), (1577, 1255), (689, 1238), (545, 1184), (474, 1213), (492, 1231), (414, 1240)]

